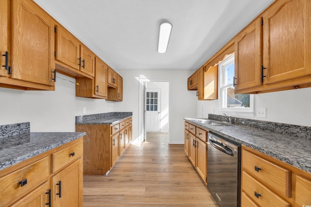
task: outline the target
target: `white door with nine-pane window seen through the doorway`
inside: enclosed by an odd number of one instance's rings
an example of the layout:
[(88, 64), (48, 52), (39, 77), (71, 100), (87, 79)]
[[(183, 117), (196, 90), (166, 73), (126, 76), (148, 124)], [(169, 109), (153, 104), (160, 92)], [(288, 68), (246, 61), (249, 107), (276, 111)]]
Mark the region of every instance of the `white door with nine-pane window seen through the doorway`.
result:
[(146, 89), (145, 110), (146, 120), (145, 127), (147, 132), (160, 132), (160, 108), (161, 108), (161, 90)]

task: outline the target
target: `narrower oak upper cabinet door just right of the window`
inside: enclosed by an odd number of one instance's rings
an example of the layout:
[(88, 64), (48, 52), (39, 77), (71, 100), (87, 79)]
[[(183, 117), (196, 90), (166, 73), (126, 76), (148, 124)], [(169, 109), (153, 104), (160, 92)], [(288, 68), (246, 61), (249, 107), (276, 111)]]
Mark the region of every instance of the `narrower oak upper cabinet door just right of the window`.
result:
[(261, 17), (235, 38), (235, 90), (261, 84)]

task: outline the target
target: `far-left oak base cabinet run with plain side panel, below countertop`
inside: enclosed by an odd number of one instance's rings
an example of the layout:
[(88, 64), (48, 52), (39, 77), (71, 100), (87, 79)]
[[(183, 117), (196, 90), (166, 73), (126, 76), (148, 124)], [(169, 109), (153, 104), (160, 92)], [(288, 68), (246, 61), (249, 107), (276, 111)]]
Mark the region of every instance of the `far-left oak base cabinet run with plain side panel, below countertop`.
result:
[(86, 132), (84, 175), (105, 175), (111, 170), (132, 140), (131, 120), (128, 118), (112, 125), (76, 125), (76, 131)]

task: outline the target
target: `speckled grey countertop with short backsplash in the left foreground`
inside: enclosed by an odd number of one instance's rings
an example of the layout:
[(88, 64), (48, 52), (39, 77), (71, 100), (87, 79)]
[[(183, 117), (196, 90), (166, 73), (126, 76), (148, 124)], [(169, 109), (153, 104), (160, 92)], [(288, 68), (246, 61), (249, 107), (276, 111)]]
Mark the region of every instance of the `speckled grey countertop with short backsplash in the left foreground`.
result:
[[(21, 130), (25, 126), (28, 130)], [(29, 122), (1, 127), (11, 131), (0, 131), (0, 170), (86, 135), (86, 132), (30, 132)]]

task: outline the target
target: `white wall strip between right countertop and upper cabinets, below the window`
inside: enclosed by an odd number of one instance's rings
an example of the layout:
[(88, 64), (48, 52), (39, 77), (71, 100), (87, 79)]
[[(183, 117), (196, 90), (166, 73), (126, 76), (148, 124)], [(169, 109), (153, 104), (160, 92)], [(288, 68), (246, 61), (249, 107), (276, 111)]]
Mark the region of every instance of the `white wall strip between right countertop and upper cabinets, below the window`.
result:
[[(311, 127), (311, 88), (254, 95), (254, 106), (255, 111), (266, 107), (266, 118), (259, 118), (256, 114), (241, 117)], [(197, 117), (207, 118), (208, 113), (223, 113), (219, 111), (219, 100), (197, 101)]]

